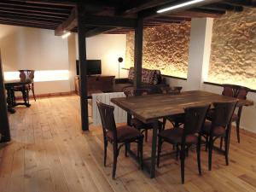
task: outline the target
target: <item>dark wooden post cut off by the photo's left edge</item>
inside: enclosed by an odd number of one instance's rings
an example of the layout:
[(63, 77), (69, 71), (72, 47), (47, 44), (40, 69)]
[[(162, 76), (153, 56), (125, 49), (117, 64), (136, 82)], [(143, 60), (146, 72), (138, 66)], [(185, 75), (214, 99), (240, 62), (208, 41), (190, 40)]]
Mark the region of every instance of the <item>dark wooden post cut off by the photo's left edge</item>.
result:
[(10, 132), (9, 132), (9, 119), (7, 113), (7, 102), (5, 98), (5, 88), (3, 82), (3, 67), (1, 60), (1, 52), (0, 52), (0, 133), (2, 138), (0, 138), (2, 142), (10, 141)]

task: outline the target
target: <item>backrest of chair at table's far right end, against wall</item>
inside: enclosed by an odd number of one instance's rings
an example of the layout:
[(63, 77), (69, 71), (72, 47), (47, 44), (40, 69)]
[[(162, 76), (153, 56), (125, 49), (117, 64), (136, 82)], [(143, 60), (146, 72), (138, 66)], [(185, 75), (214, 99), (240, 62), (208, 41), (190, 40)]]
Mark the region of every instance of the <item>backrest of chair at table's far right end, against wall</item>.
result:
[(247, 99), (247, 93), (250, 90), (247, 87), (243, 87), (236, 84), (223, 84), (223, 87), (223, 96), (232, 96), (238, 99)]

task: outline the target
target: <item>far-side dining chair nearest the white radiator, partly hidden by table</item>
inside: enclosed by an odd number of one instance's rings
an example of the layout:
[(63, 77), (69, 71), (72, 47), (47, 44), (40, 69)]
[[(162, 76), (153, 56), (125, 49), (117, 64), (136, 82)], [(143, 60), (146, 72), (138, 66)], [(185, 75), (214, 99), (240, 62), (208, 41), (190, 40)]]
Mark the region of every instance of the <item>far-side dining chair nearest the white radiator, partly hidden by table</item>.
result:
[[(150, 95), (152, 94), (152, 91), (150, 89), (135, 89), (135, 90), (128, 90), (125, 91), (125, 96), (144, 96), (144, 95)], [(135, 127), (137, 130), (139, 130), (141, 133), (145, 132), (145, 142), (148, 142), (148, 130), (153, 129), (153, 123), (143, 123), (143, 121), (133, 117), (131, 118), (131, 126)], [(161, 130), (161, 123), (159, 122), (159, 130)]]

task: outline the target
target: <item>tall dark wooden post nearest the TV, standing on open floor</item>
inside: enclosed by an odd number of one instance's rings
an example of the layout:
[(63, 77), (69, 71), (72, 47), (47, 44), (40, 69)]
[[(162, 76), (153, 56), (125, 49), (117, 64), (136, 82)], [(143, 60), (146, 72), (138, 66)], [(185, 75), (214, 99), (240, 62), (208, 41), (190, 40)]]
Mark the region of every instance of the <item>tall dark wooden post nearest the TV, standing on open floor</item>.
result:
[(81, 104), (81, 124), (83, 131), (89, 131), (88, 100), (87, 100), (87, 65), (86, 65), (86, 42), (85, 30), (82, 26), (81, 16), (83, 9), (78, 6), (78, 42), (79, 42), (79, 72), (80, 72), (80, 104)]

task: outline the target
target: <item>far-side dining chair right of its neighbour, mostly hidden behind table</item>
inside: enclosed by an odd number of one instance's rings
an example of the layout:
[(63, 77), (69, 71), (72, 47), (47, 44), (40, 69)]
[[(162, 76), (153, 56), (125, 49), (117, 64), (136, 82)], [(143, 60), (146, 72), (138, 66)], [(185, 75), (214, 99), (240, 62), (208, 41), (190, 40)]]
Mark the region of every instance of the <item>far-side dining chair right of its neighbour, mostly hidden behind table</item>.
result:
[[(162, 88), (163, 94), (169, 94), (169, 95), (178, 95), (181, 93), (181, 90), (183, 87), (181, 86), (170, 86), (170, 87), (164, 87)], [(166, 128), (166, 120), (169, 120), (172, 123), (173, 127), (178, 127), (180, 125), (184, 124), (184, 114), (175, 114), (168, 117), (163, 118), (163, 130)]]

